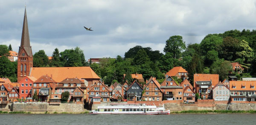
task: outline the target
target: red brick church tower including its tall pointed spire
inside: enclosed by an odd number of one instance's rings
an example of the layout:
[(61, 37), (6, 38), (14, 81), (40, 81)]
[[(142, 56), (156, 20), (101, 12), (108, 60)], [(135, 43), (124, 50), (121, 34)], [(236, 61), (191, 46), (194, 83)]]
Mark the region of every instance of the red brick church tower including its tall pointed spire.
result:
[(26, 7), (25, 7), (21, 42), (20, 42), (20, 48), (18, 53), (17, 82), (20, 82), (20, 80), (28, 76), (32, 67), (33, 67), (33, 54), (32, 54), (32, 49), (29, 41), (29, 28), (28, 28), (28, 21), (26, 17)]

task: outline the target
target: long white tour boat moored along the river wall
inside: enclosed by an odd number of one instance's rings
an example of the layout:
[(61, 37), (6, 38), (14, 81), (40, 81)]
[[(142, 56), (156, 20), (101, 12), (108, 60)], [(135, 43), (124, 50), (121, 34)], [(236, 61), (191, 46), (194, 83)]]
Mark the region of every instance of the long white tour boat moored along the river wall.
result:
[(146, 104), (111, 104), (111, 106), (98, 106), (90, 114), (170, 114), (170, 110), (163, 107), (147, 106)]

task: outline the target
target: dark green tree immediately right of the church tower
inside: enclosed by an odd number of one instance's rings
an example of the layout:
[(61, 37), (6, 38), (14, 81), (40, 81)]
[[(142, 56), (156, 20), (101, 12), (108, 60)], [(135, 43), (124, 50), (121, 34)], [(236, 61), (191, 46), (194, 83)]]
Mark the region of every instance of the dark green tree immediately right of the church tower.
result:
[(33, 56), (33, 67), (47, 67), (48, 62), (48, 56), (44, 50), (39, 50)]

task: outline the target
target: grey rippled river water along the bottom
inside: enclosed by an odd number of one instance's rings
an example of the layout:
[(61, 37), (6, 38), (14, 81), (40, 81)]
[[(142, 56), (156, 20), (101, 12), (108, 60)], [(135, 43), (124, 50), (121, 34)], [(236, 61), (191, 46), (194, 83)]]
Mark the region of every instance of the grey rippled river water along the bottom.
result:
[(256, 114), (0, 114), (0, 125), (256, 125)]

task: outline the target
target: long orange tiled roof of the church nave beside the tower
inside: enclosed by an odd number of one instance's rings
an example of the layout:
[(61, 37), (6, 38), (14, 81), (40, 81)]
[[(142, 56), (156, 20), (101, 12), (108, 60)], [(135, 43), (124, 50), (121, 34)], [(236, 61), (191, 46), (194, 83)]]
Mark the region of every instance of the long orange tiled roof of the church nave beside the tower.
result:
[(100, 79), (90, 67), (33, 67), (29, 74), (35, 78), (42, 75), (52, 75), (52, 79), (57, 82), (61, 82), (65, 78)]

